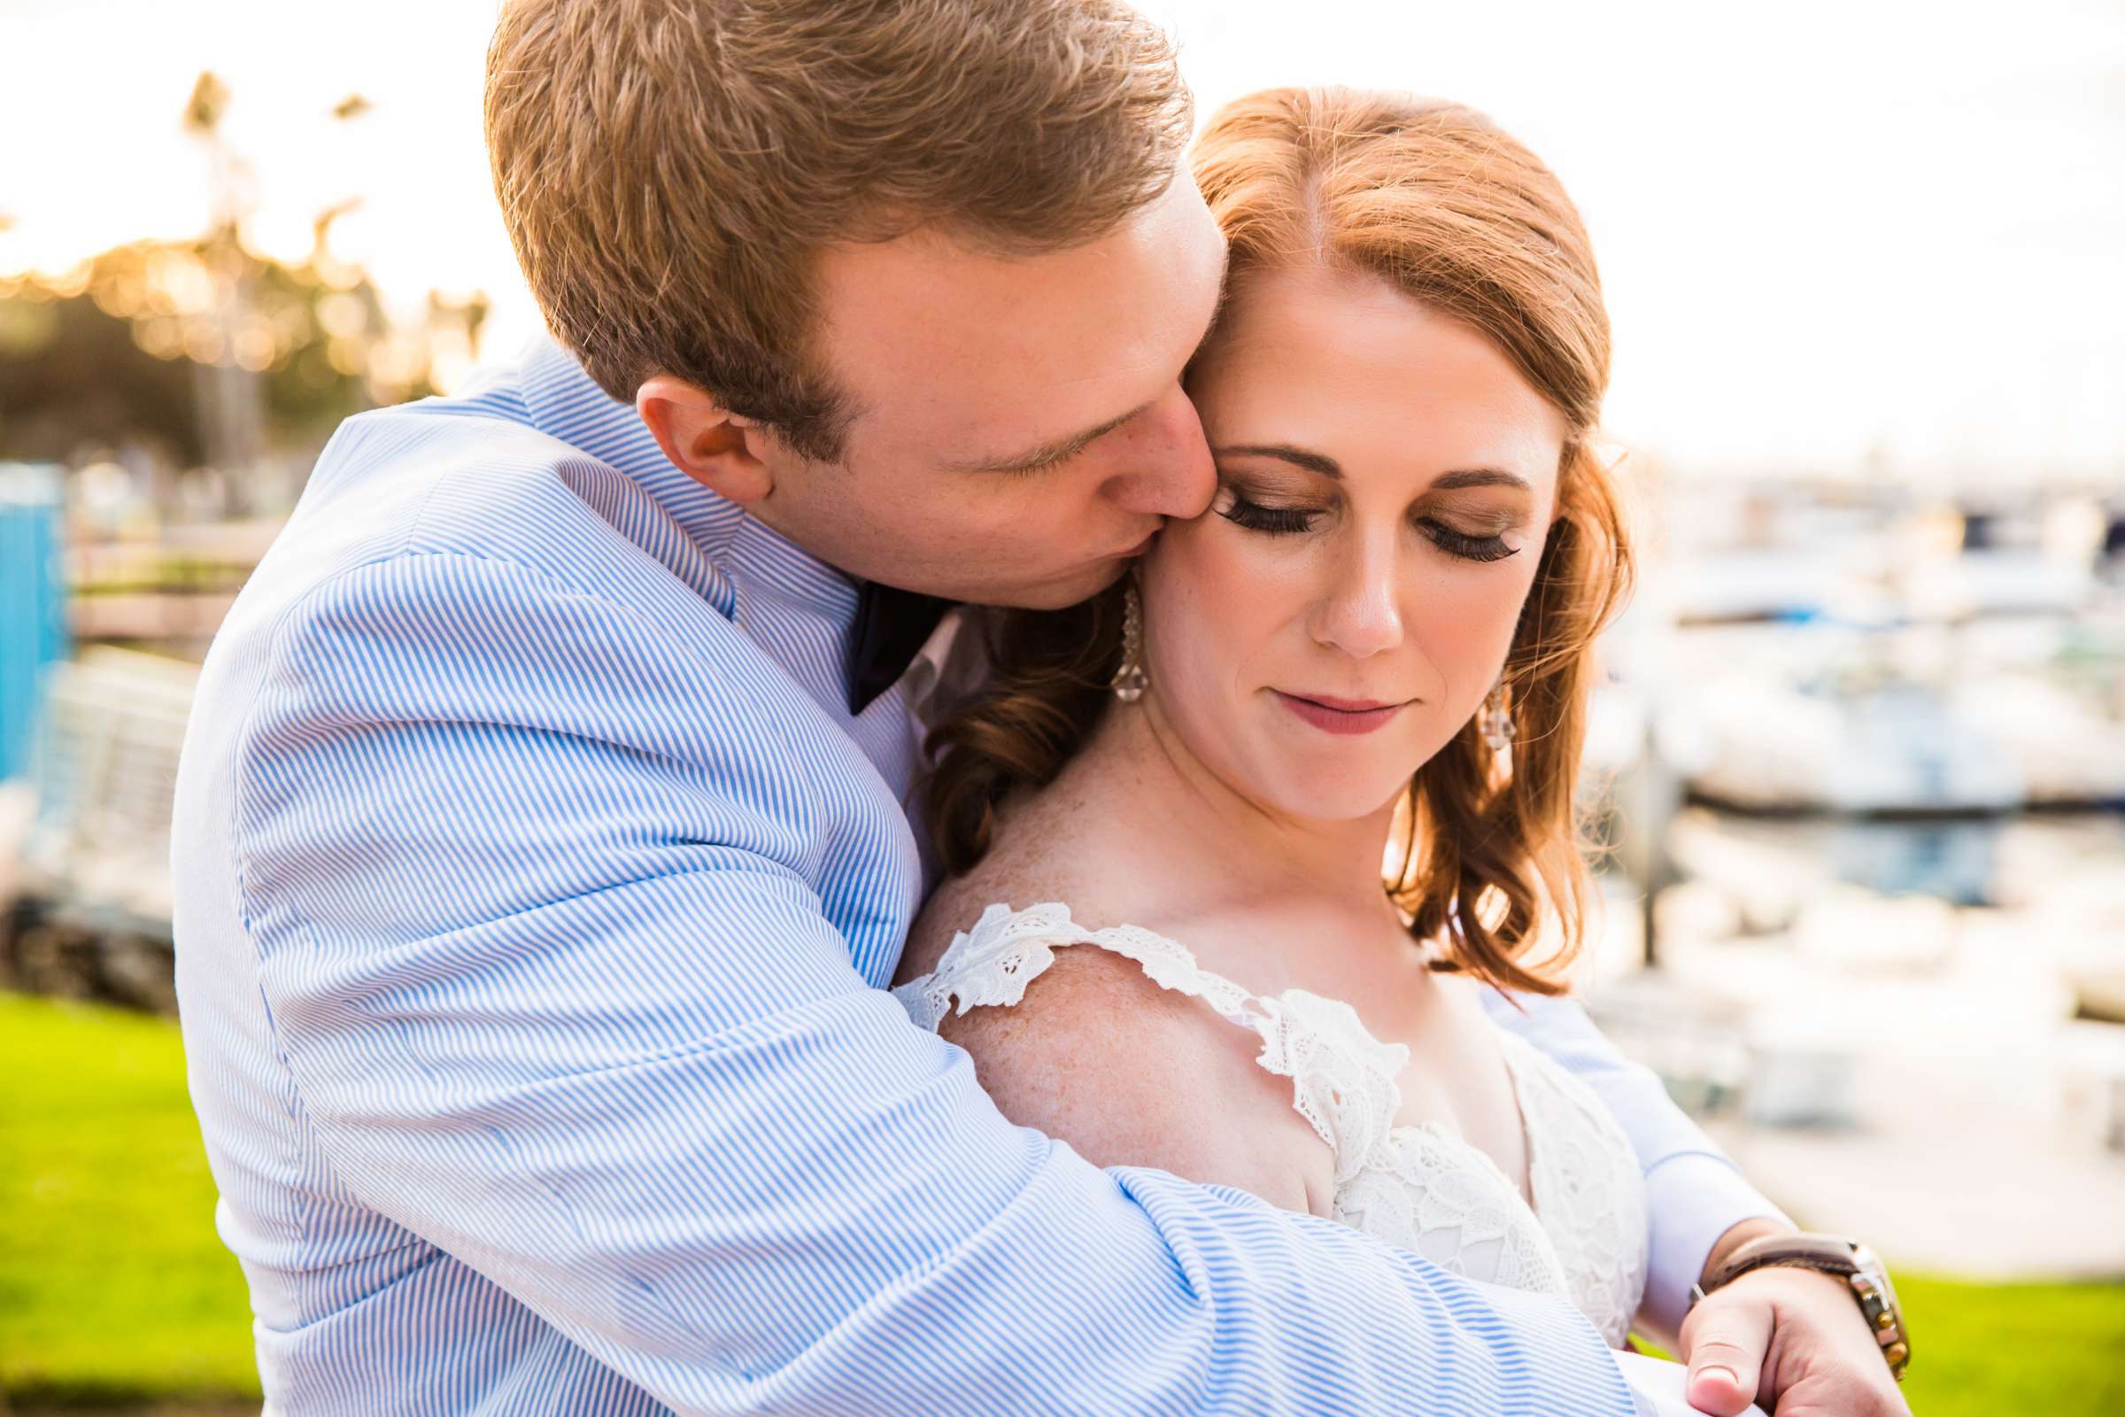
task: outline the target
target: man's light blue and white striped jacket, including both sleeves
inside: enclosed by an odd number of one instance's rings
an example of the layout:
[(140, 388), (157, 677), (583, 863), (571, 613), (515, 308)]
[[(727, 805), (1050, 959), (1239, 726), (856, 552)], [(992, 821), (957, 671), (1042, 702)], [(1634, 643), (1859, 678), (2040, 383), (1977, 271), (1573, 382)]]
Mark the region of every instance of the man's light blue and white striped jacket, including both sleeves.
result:
[[(997, 1113), (880, 988), (916, 729), (905, 686), (848, 714), (854, 603), (550, 344), (325, 448), (176, 805), (270, 1406), (1630, 1413), (1560, 1300)], [(1679, 1115), (1632, 1130), (1726, 1188), (1700, 1232), (1753, 1213)]]

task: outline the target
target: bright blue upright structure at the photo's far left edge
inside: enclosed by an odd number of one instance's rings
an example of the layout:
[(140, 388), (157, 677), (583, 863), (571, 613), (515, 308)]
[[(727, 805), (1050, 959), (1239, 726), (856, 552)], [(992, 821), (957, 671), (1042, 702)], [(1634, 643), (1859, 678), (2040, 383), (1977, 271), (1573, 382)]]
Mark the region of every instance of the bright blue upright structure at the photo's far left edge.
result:
[(0, 463), (0, 782), (30, 756), (45, 665), (66, 654), (60, 470)]

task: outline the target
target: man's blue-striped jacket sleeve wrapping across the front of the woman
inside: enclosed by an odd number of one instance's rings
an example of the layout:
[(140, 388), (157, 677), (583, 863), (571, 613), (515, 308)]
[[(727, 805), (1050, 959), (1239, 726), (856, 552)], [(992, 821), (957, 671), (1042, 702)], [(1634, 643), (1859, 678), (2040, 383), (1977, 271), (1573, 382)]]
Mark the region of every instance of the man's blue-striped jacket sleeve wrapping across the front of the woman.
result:
[(1012, 1126), (710, 631), (453, 554), (283, 618), (240, 901), (363, 1205), (678, 1413), (1632, 1411), (1558, 1298)]

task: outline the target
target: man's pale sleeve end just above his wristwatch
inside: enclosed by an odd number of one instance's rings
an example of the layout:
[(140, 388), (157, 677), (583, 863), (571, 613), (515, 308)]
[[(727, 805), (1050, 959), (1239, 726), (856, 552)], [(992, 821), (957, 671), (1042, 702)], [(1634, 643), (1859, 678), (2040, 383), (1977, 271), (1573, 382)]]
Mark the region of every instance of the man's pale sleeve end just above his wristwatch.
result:
[(1630, 1137), (1651, 1215), (1645, 1313), (1672, 1334), (1721, 1234), (1745, 1219), (1791, 1222), (1683, 1115), (1651, 1069), (1630, 1062), (1602, 1037), (1579, 1001), (1483, 990), (1483, 1003), (1500, 1026), (1590, 1086)]

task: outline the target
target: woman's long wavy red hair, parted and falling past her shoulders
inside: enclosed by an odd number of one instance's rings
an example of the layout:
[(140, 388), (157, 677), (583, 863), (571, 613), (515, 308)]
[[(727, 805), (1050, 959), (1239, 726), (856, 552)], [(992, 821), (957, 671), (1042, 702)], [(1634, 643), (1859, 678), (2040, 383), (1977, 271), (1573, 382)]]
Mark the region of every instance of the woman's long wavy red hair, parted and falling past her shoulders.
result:
[[(1266, 89), (1222, 108), (1192, 151), (1250, 272), (1328, 263), (1371, 272), (1483, 334), (1568, 425), (1558, 520), (1504, 661), (1509, 761), (1475, 722), (1407, 788), (1383, 888), (1441, 969), (1562, 992), (1585, 935), (1587, 867), (1575, 786), (1594, 639), (1630, 591), (1615, 482), (1590, 448), (1609, 387), (1609, 314), (1585, 225), (1558, 178), (1458, 104), (1356, 89)], [(946, 867), (967, 871), (1014, 790), (1046, 786), (1109, 705), (1118, 593), (990, 622), (997, 673), (931, 735), (926, 788)], [(1547, 916), (1558, 939), (1530, 960)]]

